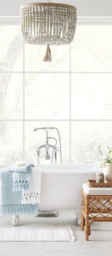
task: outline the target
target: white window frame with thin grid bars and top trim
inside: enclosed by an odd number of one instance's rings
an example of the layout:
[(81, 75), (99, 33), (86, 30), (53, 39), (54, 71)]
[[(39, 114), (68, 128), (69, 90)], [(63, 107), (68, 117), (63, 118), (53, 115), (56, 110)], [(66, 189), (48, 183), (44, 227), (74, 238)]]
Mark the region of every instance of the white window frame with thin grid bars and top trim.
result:
[[(0, 25), (20, 25), (19, 16), (0, 16)], [(112, 25), (112, 17), (77, 17), (77, 25)], [(112, 122), (112, 119), (72, 119), (71, 118), (71, 75), (72, 74), (96, 74), (96, 73), (111, 73), (112, 72), (77, 72), (71, 71), (71, 45), (69, 45), (69, 71), (68, 72), (40, 72), (40, 71), (25, 71), (25, 43), (23, 40), (23, 67), (22, 71), (5, 71), (0, 73), (18, 73), (23, 74), (23, 118), (22, 119), (0, 119), (0, 121), (21, 121), (23, 124), (22, 135), (22, 158), (25, 158), (25, 122), (27, 121), (57, 121), (57, 122), (69, 122), (69, 164), (71, 164), (71, 124), (72, 122)], [(25, 119), (25, 74), (27, 73), (52, 73), (52, 74), (69, 74), (69, 119)]]

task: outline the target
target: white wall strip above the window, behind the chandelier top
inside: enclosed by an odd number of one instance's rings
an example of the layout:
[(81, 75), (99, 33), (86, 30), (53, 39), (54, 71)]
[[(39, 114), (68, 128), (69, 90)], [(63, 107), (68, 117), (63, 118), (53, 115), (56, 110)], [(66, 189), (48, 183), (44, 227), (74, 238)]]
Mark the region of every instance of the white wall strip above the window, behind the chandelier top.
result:
[[(51, 0), (75, 5), (78, 16), (112, 16), (112, 0)], [(47, 0), (0, 0), (0, 16), (19, 16), (19, 7), (27, 2)]]

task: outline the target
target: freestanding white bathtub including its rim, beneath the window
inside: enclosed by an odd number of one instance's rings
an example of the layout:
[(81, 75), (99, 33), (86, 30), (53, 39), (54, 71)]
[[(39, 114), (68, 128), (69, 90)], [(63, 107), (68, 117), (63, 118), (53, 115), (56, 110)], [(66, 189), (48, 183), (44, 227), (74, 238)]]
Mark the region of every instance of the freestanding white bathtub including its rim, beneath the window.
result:
[(80, 209), (82, 184), (94, 179), (96, 165), (39, 165), (42, 193), (39, 208)]

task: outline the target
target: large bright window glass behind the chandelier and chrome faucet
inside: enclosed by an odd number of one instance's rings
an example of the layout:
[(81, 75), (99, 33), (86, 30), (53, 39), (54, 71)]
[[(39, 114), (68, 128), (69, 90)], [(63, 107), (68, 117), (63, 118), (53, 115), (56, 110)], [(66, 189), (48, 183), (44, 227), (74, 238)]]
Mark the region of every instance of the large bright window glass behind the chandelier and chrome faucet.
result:
[[(19, 27), (18, 29), (16, 27), (14, 26), (14, 29), (12, 29), (14, 31), (8, 39), (8, 44), (10, 45), (11, 40), (12, 44), (15, 44), (16, 51), (18, 51), (18, 55), (15, 53), (17, 60), (13, 62), (12, 67), (10, 66), (12, 64), (8, 64), (6, 67), (6, 62), (0, 62), (0, 84), (2, 88), (8, 84), (5, 104), (2, 104), (3, 109), (0, 112), (0, 146), (1, 148), (3, 146), (10, 157), (6, 157), (7, 154), (3, 153), (3, 150), (0, 162), (6, 164), (9, 159), (14, 162), (14, 160), (23, 158), (26, 160), (33, 159), (36, 163), (35, 147), (37, 142), (38, 144), (41, 143), (41, 140), (35, 141), (34, 139), (33, 128), (35, 127), (33, 126), (35, 124), (37, 126), (54, 125), (59, 128), (63, 164), (97, 163), (100, 161), (100, 156), (95, 155), (93, 145), (101, 143), (101, 140), (103, 141), (103, 148), (106, 142), (108, 142), (108, 145), (110, 143), (112, 145), (110, 141), (112, 131), (112, 48), (109, 48), (110, 41), (112, 41), (112, 33), (110, 33), (112, 26), (77, 26), (75, 40), (70, 47), (68, 45), (62, 45), (62, 47), (53, 46), (53, 62), (49, 65), (41, 62), (44, 46), (38, 47), (36, 53), (37, 45), (25, 44)], [(99, 28), (102, 40), (99, 37)], [(0, 29), (2, 34), (2, 26), (0, 26)], [(7, 26), (5, 29), (7, 30)], [(88, 30), (91, 32), (92, 37), (87, 39)], [(91, 41), (94, 31), (96, 33), (96, 39), (94, 40), (96, 40), (97, 44), (99, 42), (99, 45), (97, 45), (98, 47), (94, 46), (95, 48), (93, 47), (93, 52), (91, 52), (91, 44), (86, 43), (84, 45), (85, 48), (82, 48), (81, 44), (84, 43), (85, 38)], [(106, 43), (109, 47), (104, 44), (103, 32), (107, 34), (108, 41)], [(80, 36), (83, 36), (83, 34), (84, 38), (81, 40)], [(17, 38), (20, 42), (19, 48), (16, 42)], [(2, 44), (1, 55), (8, 56), (8, 44)], [(99, 47), (103, 50), (100, 53)], [(59, 49), (61, 49), (61, 54), (59, 54)], [(55, 50), (58, 53), (57, 55)], [(37, 59), (40, 51), (39, 59)], [(36, 53), (35, 61), (32, 60), (34, 53)], [(82, 53), (81, 57), (78, 56), (79, 53)], [(88, 61), (86, 62), (85, 56), (88, 56)], [(35, 71), (34, 74), (33, 71)], [(43, 74), (39, 74), (41, 71)], [(47, 84), (47, 88), (44, 82)], [(100, 95), (99, 91), (101, 92)], [(36, 96), (38, 95), (40, 103), (36, 101)], [(1, 97), (1, 103), (2, 101)], [(44, 109), (41, 101), (46, 105), (46, 109)], [(38, 121), (36, 121), (37, 119)], [(3, 122), (3, 120), (5, 121)], [(45, 121), (43, 122), (42, 120)], [(81, 120), (84, 121), (81, 122)], [(88, 120), (88, 122), (85, 122), (85, 120)], [(106, 122), (102, 122), (103, 120)], [(8, 129), (6, 129), (6, 126)], [(105, 136), (108, 127), (109, 133)], [(3, 129), (6, 130), (6, 134), (2, 131)], [(12, 134), (9, 130), (12, 130)], [(44, 132), (41, 137), (45, 141)], [(13, 144), (13, 140), (15, 144)], [(16, 144), (18, 144), (17, 148)], [(15, 151), (14, 148), (16, 148)], [(12, 156), (10, 152), (12, 152)], [(44, 155), (42, 156), (42, 161), (41, 164), (47, 164), (44, 160)]]

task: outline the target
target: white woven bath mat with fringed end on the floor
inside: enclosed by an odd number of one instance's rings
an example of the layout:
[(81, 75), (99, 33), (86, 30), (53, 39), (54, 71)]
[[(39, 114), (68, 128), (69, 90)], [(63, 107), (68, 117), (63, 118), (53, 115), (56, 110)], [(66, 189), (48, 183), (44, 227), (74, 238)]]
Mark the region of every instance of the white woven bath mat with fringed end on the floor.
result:
[(1, 227), (0, 242), (74, 242), (71, 227)]

